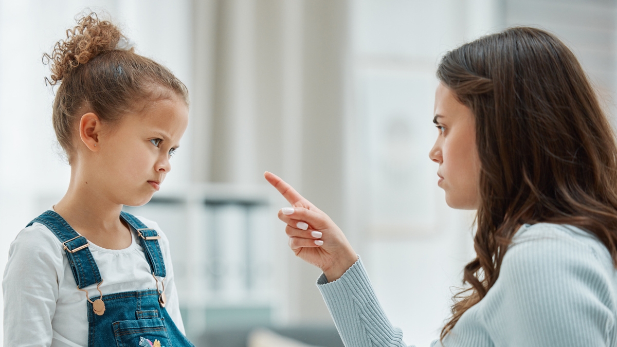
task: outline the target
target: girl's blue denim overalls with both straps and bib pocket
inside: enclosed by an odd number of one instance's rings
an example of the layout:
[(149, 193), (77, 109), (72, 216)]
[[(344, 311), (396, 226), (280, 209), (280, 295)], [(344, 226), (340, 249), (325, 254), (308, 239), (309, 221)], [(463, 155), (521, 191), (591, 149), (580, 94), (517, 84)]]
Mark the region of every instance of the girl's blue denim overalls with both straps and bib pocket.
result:
[[(39, 215), (28, 227), (34, 222), (45, 225), (64, 246), (77, 289), (85, 291), (88, 299), (88, 347), (194, 347), (165, 310), (165, 262), (158, 241), (160, 236), (156, 230), (148, 228), (131, 214), (120, 212), (120, 217), (139, 235), (141, 247), (157, 283), (155, 290), (102, 295), (99, 286), (103, 280), (85, 237), (75, 232), (66, 220), (54, 211)], [(163, 278), (162, 290), (159, 290), (156, 276)], [(95, 283), (98, 283), (96, 288), (99, 296), (88, 298), (88, 291), (83, 288)]]

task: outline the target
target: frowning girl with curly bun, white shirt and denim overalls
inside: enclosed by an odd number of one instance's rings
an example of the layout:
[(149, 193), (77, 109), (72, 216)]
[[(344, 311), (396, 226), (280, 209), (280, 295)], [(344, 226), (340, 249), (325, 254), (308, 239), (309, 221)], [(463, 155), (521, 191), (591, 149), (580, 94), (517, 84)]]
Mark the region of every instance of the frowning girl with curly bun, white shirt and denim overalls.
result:
[(193, 346), (159, 226), (122, 212), (147, 203), (188, 123), (188, 92), (96, 14), (51, 55), (53, 123), (68, 191), (10, 246), (5, 346)]

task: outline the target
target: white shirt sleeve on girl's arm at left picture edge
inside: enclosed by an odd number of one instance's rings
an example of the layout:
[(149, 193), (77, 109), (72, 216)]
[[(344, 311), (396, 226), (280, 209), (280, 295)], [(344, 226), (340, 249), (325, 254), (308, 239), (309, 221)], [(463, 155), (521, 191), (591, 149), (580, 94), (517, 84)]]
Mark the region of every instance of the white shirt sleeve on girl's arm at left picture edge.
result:
[(62, 274), (62, 249), (52, 237), (35, 224), (10, 245), (2, 280), (4, 346), (51, 346)]

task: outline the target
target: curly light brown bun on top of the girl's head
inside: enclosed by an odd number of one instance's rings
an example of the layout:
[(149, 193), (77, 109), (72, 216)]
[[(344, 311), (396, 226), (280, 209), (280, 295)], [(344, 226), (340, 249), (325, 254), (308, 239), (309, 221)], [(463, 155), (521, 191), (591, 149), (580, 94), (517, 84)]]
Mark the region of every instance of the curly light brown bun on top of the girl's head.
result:
[[(43, 54), (43, 63), (51, 63), (51, 80), (55, 85), (62, 81), (71, 70), (80, 64), (86, 64), (90, 59), (107, 51), (113, 51), (120, 39), (125, 36), (111, 22), (99, 20), (92, 12), (77, 20), (77, 26), (67, 30), (67, 38), (54, 45), (51, 54)], [(132, 48), (127, 50), (132, 51)]]

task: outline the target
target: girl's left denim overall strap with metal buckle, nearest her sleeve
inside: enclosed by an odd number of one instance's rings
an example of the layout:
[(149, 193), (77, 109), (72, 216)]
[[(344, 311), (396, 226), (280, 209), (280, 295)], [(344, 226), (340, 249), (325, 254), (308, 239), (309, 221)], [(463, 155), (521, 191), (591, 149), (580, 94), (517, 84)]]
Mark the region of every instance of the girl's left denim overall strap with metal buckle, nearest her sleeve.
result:
[(67, 221), (54, 211), (43, 212), (32, 220), (27, 227), (35, 222), (48, 227), (62, 243), (78, 288), (83, 289), (86, 286), (101, 282), (99, 267), (94, 262), (92, 253), (88, 249), (90, 244), (85, 237), (75, 232)]

